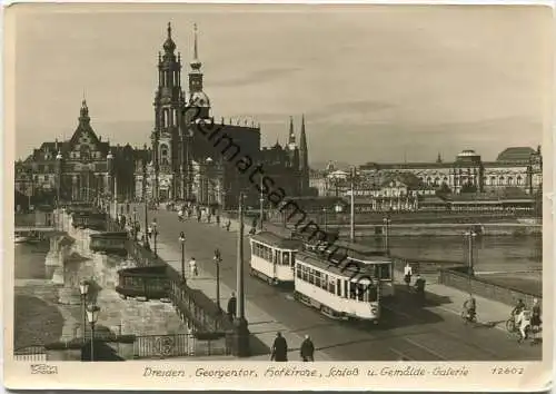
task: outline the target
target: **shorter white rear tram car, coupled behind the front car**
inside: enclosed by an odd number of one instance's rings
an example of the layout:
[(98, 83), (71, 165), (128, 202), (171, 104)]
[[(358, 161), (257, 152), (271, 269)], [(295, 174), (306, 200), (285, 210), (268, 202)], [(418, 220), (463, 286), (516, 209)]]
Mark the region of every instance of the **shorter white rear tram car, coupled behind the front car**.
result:
[(294, 283), (296, 253), (302, 247), (298, 239), (261, 232), (250, 238), (250, 275), (270, 285)]

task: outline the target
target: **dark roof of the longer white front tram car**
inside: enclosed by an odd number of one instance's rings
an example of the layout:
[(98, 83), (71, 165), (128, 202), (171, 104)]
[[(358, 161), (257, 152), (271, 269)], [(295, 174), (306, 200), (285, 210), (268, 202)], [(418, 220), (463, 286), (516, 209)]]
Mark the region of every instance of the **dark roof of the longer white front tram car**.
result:
[[(355, 260), (344, 260), (339, 264), (335, 264), (334, 260), (328, 260), (321, 258), (314, 253), (298, 252), (296, 254), (296, 262), (301, 262), (314, 266), (315, 268), (326, 270), (332, 275), (337, 275), (342, 278), (350, 278), (357, 282), (359, 278), (376, 278), (375, 266), (370, 264), (365, 264)], [(379, 262), (376, 262), (379, 263)], [(387, 262), (385, 262), (387, 263)]]

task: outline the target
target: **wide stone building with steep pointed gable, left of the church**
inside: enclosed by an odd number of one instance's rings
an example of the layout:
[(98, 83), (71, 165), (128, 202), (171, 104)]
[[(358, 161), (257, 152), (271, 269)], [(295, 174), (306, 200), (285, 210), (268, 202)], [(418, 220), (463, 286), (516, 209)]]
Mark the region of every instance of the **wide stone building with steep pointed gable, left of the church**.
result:
[(91, 126), (83, 99), (78, 126), (67, 141), (43, 142), (24, 160), (16, 162), (16, 194), (29, 205), (54, 201), (97, 201), (132, 196), (135, 149), (110, 147)]

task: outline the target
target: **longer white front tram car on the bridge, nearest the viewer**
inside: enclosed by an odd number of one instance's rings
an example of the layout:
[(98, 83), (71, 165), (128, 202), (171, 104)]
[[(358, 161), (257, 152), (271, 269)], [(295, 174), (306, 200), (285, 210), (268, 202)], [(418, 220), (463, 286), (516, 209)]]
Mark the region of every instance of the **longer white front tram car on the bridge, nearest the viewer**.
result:
[(381, 286), (375, 269), (350, 262), (341, 267), (314, 253), (296, 255), (294, 297), (337, 319), (360, 319), (378, 324)]

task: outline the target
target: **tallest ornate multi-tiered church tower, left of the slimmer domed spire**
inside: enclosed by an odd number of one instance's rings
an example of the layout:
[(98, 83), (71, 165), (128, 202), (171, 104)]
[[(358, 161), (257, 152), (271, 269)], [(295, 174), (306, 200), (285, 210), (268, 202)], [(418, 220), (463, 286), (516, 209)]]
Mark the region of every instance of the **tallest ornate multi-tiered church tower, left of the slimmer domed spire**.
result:
[(181, 90), (181, 59), (176, 57), (171, 24), (162, 45), (163, 55), (158, 55), (158, 89), (155, 96), (155, 129), (151, 135), (152, 165), (155, 171), (153, 197), (176, 197), (175, 176), (179, 171), (179, 125), (181, 122), (185, 93)]

